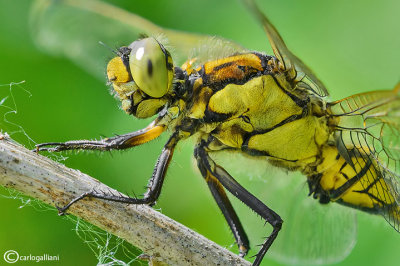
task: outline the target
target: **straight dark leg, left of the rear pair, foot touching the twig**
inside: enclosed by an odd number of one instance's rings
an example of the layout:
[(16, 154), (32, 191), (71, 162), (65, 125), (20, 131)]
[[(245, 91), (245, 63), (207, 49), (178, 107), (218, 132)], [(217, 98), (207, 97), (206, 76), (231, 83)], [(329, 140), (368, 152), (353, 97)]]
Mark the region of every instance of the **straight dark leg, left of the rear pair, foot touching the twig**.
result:
[(201, 159), (197, 154), (197, 149), (195, 150), (195, 157), (197, 159), (197, 166), (199, 167), (201, 174), (206, 180), (211, 194), (213, 195), (215, 201), (218, 204), (218, 207), (225, 217), (225, 220), (228, 222), (228, 225), (231, 228), (233, 236), (235, 237), (236, 243), (239, 247), (239, 255), (241, 257), (244, 257), (250, 248), (250, 244), (246, 232), (244, 231), (243, 226), (240, 223), (239, 217), (233, 209), (233, 206), (229, 201), (229, 198), (226, 195), (221, 183), (204, 167)]

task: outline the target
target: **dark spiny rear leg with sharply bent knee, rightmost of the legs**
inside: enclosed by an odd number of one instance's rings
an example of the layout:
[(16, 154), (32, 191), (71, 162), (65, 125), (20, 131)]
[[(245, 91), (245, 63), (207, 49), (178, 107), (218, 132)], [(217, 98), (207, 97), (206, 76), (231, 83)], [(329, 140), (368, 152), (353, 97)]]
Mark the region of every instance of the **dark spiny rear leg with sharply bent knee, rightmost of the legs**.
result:
[(278, 214), (242, 187), (224, 168), (217, 165), (208, 155), (206, 147), (207, 144), (204, 140), (201, 140), (196, 147), (196, 157), (200, 170), (205, 170), (207, 175), (216, 178), (230, 193), (249, 206), (273, 227), (272, 233), (263, 243), (253, 262), (253, 265), (260, 265), (265, 253), (277, 237), (283, 221)]

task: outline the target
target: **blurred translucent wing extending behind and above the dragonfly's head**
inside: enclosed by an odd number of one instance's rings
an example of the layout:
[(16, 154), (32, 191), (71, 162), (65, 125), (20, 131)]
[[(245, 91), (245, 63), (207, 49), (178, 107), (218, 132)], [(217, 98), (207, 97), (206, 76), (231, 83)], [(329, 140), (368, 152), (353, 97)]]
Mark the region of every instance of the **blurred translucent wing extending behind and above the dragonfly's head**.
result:
[[(220, 37), (162, 28), (134, 13), (97, 0), (37, 0), (31, 10), (30, 24), (39, 47), (71, 59), (101, 79), (104, 79), (107, 60), (114, 55), (105, 56), (107, 48), (99, 45), (100, 41), (117, 49), (143, 35), (154, 36), (167, 49), (171, 47), (169, 50), (177, 64), (191, 55), (202, 56), (211, 42), (218, 44), (214, 48), (222, 56), (226, 55), (222, 53), (225, 50), (232, 53), (244, 50), (239, 44)], [(218, 50), (212, 56), (216, 57)]]

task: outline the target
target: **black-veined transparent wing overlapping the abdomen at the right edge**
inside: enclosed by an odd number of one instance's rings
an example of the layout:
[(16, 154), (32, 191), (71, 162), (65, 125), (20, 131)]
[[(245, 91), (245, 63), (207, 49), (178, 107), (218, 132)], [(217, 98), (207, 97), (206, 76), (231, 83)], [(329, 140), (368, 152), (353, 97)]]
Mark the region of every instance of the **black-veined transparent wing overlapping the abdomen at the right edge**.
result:
[[(357, 94), (331, 103), (340, 121), (336, 142), (344, 158), (371, 162), (362, 180), (385, 219), (400, 231), (400, 84), (394, 90)], [(368, 188), (368, 189), (367, 189)]]

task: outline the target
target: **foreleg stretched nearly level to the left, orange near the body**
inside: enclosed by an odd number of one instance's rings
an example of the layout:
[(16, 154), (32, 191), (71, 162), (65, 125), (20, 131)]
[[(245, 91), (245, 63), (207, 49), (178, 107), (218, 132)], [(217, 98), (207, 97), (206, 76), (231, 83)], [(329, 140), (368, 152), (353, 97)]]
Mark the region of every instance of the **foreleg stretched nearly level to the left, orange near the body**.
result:
[(158, 125), (157, 120), (141, 130), (102, 140), (71, 140), (67, 142), (47, 142), (36, 145), (34, 151), (59, 152), (66, 150), (122, 150), (149, 142), (161, 135), (164, 125)]

